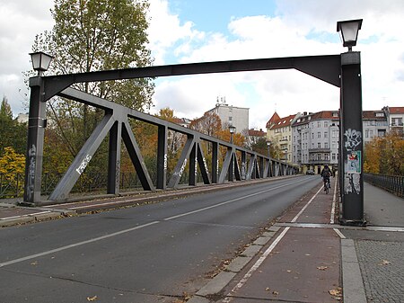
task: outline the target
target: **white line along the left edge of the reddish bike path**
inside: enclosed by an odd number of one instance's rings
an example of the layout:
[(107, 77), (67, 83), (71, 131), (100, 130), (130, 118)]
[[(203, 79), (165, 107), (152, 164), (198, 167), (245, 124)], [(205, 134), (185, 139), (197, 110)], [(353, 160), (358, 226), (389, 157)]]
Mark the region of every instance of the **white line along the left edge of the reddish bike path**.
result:
[[(308, 201), (306, 203), (306, 205), (304, 205), (303, 209), (301, 209), (299, 211), (299, 213), (292, 219), (291, 223), (294, 223), (303, 213), (303, 211), (305, 209), (307, 209), (307, 207), (312, 203), (312, 201), (314, 200), (314, 198), (317, 197), (317, 195), (319, 194), (319, 192), (321, 192), (322, 188), (324, 186), (321, 186), (320, 190), (318, 192), (316, 192), (313, 196), (312, 199), (310, 201)], [(231, 290), (227, 295), (226, 298), (222, 300), (222, 303), (229, 303), (232, 299), (233, 299), (233, 293), (237, 292), (238, 290), (241, 290), (242, 287), (245, 285), (245, 283), (250, 279), (250, 277), (252, 276), (252, 274), (254, 272), (256, 272), (259, 269), (259, 265), (262, 264), (268, 257), (268, 255), (274, 250), (274, 248), (277, 246), (277, 244), (282, 240), (282, 238), (286, 235), (287, 231), (290, 229), (290, 227), (285, 227), (285, 229), (280, 233), (279, 236), (277, 236), (277, 238), (274, 240), (274, 242), (269, 245), (269, 247), (267, 248), (267, 250), (264, 252), (264, 254), (262, 254), (259, 257), (259, 260), (257, 260), (256, 263), (254, 263), (254, 265), (252, 265), (252, 267), (250, 268), (250, 271), (248, 271), (244, 277), (242, 277), (242, 280), (240, 282), (237, 283), (236, 286), (233, 287), (233, 290)]]

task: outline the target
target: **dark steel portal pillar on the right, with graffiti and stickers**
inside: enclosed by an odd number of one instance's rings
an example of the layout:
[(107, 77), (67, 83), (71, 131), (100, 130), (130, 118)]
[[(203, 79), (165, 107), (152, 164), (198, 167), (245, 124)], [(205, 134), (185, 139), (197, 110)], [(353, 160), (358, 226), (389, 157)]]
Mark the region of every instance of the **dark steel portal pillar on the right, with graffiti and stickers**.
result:
[(360, 52), (341, 54), (341, 224), (364, 225), (364, 141)]

